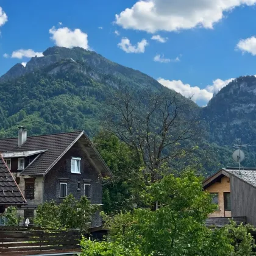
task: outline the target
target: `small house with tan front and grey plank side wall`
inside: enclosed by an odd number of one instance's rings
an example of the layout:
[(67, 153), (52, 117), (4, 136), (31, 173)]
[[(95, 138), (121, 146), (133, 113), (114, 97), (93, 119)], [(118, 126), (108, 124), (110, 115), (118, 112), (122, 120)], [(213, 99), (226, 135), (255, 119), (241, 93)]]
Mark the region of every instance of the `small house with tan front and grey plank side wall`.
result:
[(218, 210), (208, 215), (207, 226), (223, 226), (232, 218), (256, 226), (256, 168), (222, 168), (203, 182)]

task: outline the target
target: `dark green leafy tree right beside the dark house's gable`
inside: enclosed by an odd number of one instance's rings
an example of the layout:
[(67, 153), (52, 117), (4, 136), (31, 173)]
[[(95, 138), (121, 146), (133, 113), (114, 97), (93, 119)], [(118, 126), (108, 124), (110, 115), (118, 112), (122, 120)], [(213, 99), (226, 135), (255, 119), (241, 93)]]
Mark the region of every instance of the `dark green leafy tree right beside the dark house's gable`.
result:
[(143, 184), (141, 161), (135, 151), (109, 132), (100, 132), (94, 137), (94, 145), (113, 172), (113, 178), (103, 182), (103, 210), (118, 213), (131, 210), (138, 204), (138, 190)]

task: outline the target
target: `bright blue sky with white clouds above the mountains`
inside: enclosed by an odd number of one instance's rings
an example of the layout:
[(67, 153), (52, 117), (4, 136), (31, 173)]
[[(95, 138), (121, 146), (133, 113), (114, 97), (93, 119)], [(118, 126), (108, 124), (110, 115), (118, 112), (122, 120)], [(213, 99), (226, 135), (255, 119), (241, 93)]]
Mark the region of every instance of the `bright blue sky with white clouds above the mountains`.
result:
[(0, 0), (0, 76), (79, 46), (207, 105), (256, 74), (255, 24), (256, 0)]

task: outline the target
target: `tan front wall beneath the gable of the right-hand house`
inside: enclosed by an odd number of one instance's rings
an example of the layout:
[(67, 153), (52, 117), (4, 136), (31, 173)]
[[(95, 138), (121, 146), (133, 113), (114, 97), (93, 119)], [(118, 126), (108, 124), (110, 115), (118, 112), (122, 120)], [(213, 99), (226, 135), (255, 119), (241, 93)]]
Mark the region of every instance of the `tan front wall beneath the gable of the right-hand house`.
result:
[(219, 195), (219, 210), (208, 215), (208, 218), (213, 217), (231, 217), (231, 211), (224, 211), (224, 193), (230, 192), (229, 177), (222, 177), (221, 182), (215, 182), (207, 188), (210, 193), (218, 193)]

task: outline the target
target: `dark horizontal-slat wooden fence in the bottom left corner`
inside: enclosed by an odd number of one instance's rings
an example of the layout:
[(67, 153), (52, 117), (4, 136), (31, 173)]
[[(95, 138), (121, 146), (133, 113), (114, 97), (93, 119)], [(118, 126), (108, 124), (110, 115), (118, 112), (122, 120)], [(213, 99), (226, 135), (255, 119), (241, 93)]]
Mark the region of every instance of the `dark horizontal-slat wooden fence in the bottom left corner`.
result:
[(80, 252), (79, 230), (42, 230), (39, 227), (0, 227), (0, 254), (31, 255)]

